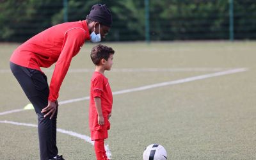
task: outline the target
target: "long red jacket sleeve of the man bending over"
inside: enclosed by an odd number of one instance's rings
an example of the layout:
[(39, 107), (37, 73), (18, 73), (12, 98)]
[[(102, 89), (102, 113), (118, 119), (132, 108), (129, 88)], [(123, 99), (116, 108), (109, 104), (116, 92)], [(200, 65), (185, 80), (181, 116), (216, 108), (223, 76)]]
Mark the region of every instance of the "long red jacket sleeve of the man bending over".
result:
[(76, 56), (80, 51), (81, 46), (84, 44), (85, 36), (83, 29), (79, 28), (71, 29), (65, 33), (60, 57), (56, 62), (50, 83), (48, 99), (52, 102), (58, 99), (60, 86), (67, 74), (72, 57)]

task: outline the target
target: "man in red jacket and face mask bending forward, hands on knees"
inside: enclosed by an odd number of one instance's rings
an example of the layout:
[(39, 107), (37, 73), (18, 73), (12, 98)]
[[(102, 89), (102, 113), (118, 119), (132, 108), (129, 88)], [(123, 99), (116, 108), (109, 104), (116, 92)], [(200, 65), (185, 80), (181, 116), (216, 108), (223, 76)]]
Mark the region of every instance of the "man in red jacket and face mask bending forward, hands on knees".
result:
[[(20, 45), (10, 58), (10, 68), (38, 116), (40, 159), (63, 159), (56, 145), (56, 119), (61, 83), (72, 57), (86, 40), (100, 42), (111, 28), (107, 6), (95, 4), (85, 20), (52, 26)], [(56, 63), (50, 87), (40, 67)]]

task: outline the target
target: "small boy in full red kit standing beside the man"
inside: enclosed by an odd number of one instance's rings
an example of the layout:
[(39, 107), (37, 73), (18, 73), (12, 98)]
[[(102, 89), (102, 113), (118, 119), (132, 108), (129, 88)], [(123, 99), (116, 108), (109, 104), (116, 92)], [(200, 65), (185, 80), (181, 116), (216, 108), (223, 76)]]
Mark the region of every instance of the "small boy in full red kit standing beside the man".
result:
[(105, 70), (111, 70), (115, 51), (105, 45), (92, 48), (91, 58), (95, 64), (95, 72), (91, 79), (89, 127), (97, 160), (108, 160), (104, 148), (104, 139), (108, 138), (113, 97)]

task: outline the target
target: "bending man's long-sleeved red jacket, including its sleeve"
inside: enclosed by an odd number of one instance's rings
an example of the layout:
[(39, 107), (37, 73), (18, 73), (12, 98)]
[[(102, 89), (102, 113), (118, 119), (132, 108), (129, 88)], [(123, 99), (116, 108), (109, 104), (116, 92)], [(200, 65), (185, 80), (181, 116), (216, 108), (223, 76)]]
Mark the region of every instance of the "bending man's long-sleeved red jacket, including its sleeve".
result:
[(86, 20), (52, 26), (20, 45), (10, 61), (31, 69), (50, 67), (56, 63), (50, 83), (49, 100), (58, 99), (61, 83), (67, 74), (72, 57), (90, 40)]

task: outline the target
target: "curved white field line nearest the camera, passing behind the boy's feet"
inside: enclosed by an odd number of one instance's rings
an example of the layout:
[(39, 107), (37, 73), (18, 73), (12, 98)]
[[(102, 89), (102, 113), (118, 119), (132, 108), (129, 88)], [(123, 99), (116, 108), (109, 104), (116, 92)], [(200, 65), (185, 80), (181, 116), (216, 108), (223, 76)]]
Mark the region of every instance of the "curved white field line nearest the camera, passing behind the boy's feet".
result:
[[(25, 124), (25, 123), (13, 122), (13, 121), (8, 121), (8, 120), (0, 120), (0, 123), (1, 124), (23, 125), (23, 126), (26, 126), (26, 127), (36, 127), (37, 128), (37, 125), (35, 125), (35, 124)], [(65, 129), (57, 129), (57, 132), (61, 132), (63, 134), (68, 134), (69, 136), (74, 136), (76, 138), (80, 138), (80, 139), (85, 140), (86, 142), (94, 145), (94, 141), (92, 141), (89, 136), (79, 134), (79, 133), (73, 132), (73, 131), (67, 131)], [(111, 152), (109, 150), (108, 145), (105, 145), (105, 150), (107, 150), (108, 154), (111, 155)]]

